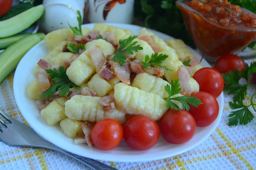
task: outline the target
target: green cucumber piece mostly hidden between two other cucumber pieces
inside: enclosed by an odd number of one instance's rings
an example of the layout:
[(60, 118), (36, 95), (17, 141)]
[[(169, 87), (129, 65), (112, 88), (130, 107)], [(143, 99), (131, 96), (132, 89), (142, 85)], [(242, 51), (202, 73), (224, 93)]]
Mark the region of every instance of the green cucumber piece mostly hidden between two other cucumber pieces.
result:
[[(9, 45), (15, 43), (16, 41), (28, 35), (31, 34), (17, 34), (11, 37), (0, 38), (0, 49), (5, 49)], [(39, 36), (41, 40), (45, 37), (45, 34), (43, 33), (37, 33), (36, 35)]]

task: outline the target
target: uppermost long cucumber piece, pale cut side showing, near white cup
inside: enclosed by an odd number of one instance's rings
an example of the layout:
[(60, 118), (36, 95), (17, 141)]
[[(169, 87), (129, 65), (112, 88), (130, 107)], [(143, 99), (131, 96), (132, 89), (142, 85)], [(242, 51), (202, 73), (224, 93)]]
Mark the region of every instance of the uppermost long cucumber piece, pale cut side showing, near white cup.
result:
[(0, 21), (0, 38), (9, 37), (27, 29), (42, 16), (44, 10), (43, 5), (38, 5), (10, 19)]

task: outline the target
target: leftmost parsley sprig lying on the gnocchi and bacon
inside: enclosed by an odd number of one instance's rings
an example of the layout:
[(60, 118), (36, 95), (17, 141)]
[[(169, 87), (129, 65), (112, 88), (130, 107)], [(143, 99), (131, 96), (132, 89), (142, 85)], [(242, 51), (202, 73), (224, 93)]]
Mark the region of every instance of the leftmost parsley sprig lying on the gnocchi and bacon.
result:
[(60, 66), (59, 70), (57, 69), (48, 69), (45, 70), (49, 76), (51, 77), (51, 81), (55, 82), (54, 84), (52, 84), (50, 86), (50, 88), (48, 88), (45, 92), (43, 92), (41, 98), (45, 99), (47, 97), (47, 99), (49, 99), (56, 91), (59, 90), (59, 94), (60, 96), (62, 95), (66, 95), (69, 93), (69, 88), (70, 86), (75, 87), (75, 88), (80, 88), (78, 85), (76, 85), (75, 83), (71, 82), (68, 79), (68, 76), (66, 74), (67, 69), (65, 69), (63, 66)]

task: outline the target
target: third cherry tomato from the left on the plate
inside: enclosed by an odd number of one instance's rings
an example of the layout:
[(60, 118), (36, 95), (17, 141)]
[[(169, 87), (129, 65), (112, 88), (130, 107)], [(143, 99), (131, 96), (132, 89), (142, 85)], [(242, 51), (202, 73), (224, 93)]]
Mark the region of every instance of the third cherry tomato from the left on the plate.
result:
[(167, 142), (181, 144), (194, 136), (196, 122), (189, 112), (172, 109), (162, 116), (159, 128), (163, 139)]

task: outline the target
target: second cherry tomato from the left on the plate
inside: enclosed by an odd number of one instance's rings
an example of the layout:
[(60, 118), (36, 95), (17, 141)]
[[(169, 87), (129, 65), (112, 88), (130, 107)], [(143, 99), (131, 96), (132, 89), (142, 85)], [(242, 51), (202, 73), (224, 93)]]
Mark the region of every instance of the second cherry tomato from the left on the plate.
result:
[(159, 135), (157, 123), (148, 116), (134, 116), (123, 126), (123, 139), (135, 150), (147, 150), (155, 146)]

